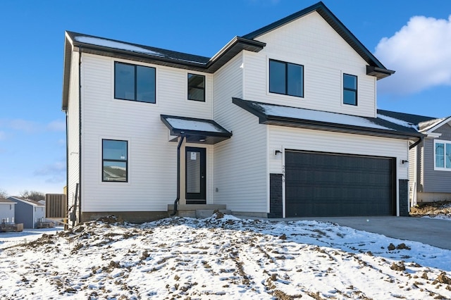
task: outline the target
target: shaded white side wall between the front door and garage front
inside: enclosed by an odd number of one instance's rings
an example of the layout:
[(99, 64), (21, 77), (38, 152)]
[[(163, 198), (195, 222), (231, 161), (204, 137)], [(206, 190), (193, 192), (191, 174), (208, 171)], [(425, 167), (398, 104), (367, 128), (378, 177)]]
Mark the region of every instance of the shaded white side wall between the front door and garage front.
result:
[(232, 103), (242, 96), (242, 59), (239, 54), (214, 75), (214, 119), (233, 132), (214, 146), (214, 199), (232, 211), (266, 213), (266, 125)]

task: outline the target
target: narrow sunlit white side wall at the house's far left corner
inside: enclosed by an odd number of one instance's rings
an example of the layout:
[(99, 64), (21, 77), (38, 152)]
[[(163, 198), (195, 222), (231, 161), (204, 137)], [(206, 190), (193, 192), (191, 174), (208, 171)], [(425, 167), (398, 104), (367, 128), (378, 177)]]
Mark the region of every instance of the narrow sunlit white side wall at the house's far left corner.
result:
[(78, 103), (78, 52), (72, 53), (70, 65), (70, 86), (68, 99), (68, 200), (69, 206), (75, 201), (75, 187), (79, 183), (79, 103)]

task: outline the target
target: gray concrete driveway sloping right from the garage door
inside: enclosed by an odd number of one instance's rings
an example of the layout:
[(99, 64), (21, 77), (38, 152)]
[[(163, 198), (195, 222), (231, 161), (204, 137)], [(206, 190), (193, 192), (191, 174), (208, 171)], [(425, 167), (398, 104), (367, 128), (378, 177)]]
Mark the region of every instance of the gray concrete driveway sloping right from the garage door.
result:
[[(274, 220), (274, 219), (270, 219)], [(416, 217), (321, 217), (278, 220), (317, 220), (337, 223), (357, 230), (407, 239), (451, 250), (451, 220)]]

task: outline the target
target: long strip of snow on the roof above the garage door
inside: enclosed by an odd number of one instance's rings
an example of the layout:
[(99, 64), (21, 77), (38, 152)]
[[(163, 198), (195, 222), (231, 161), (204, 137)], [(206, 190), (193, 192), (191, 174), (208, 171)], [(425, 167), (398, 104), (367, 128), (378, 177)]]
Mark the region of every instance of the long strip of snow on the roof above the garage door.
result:
[(355, 115), (344, 115), (341, 113), (329, 113), (326, 111), (312, 111), (304, 108), (288, 106), (275, 106), (271, 104), (258, 104), (266, 114), (283, 118), (298, 118), (302, 120), (314, 120), (325, 123), (344, 124), (359, 127), (370, 127), (383, 130), (393, 130)]

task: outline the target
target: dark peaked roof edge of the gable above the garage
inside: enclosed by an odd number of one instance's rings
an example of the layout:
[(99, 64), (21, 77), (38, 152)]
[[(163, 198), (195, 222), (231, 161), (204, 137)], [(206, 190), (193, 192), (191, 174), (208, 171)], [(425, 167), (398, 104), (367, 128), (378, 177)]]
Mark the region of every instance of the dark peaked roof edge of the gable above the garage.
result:
[(250, 32), (247, 35), (244, 35), (243, 37), (245, 39), (257, 39), (259, 36), (266, 34), (267, 32), (270, 32), (272, 30), (277, 29), (278, 27), (281, 27), (287, 23), (292, 22), (293, 20), (297, 20), (298, 18), (302, 18), (304, 15), (307, 15), (309, 13), (312, 13), (316, 11), (323, 17), (324, 20), (340, 35), (347, 44), (350, 44), (352, 49), (357, 52), (366, 63), (369, 64), (367, 67), (366, 73), (368, 75), (373, 75), (378, 77), (378, 79), (381, 79), (383, 77), (390, 76), (391, 74), (395, 73), (393, 70), (388, 70), (385, 68), (385, 66), (378, 61), (378, 59), (371, 54), (371, 52), (366, 49), (366, 47), (355, 37), (350, 30), (347, 29), (343, 23), (341, 23), (340, 20), (329, 10), (329, 8), (326, 7), (326, 5), (323, 4), (323, 2), (319, 1), (317, 4), (314, 4), (312, 6), (309, 6), (307, 8), (302, 9), (302, 11), (298, 11), (297, 13), (293, 13), (292, 15), (288, 15), (288, 17), (285, 17), (281, 20), (278, 20), (274, 23), (271, 23), (269, 25), (266, 25), (264, 27), (261, 27), (258, 30), (255, 30), (253, 32)]

